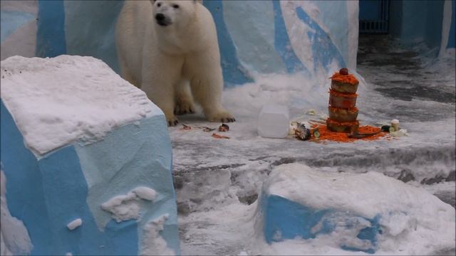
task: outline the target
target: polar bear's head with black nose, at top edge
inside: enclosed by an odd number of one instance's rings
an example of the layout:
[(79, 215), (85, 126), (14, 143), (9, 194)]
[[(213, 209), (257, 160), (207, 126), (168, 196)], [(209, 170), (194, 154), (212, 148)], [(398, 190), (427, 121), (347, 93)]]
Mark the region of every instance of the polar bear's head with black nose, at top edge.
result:
[(155, 23), (162, 27), (187, 24), (195, 16), (197, 4), (201, 2), (201, 0), (152, 0)]

